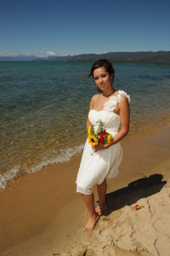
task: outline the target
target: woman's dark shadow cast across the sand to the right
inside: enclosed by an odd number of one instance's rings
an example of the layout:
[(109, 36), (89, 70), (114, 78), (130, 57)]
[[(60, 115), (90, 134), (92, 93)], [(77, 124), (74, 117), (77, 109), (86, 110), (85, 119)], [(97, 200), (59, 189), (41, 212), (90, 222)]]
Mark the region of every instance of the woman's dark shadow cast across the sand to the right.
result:
[(113, 211), (121, 209), (126, 205), (130, 206), (140, 198), (148, 197), (161, 191), (167, 181), (162, 181), (163, 175), (153, 174), (150, 177), (137, 179), (128, 184), (127, 187), (106, 195), (108, 209), (103, 213), (107, 216)]

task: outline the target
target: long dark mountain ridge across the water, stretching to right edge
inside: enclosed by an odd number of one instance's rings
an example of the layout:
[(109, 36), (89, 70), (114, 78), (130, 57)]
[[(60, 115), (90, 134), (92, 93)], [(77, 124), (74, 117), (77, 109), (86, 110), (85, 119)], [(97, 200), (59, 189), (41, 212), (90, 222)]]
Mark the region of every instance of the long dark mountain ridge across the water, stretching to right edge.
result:
[(79, 54), (55, 56), (33, 61), (96, 61), (108, 59), (116, 63), (170, 65), (170, 51), (159, 52), (111, 52), (107, 54)]

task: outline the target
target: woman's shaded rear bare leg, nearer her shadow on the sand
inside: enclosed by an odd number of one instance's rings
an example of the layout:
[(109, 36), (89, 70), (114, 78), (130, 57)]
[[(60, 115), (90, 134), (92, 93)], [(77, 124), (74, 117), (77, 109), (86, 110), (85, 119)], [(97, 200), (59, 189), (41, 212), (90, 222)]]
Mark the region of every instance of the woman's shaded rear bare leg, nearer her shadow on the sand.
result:
[(97, 213), (99, 213), (101, 210), (106, 210), (107, 206), (105, 203), (105, 194), (107, 191), (107, 183), (106, 180), (104, 180), (104, 182), (100, 185), (97, 185), (97, 189), (98, 189), (98, 195), (99, 195), (99, 206), (97, 208), (95, 208), (95, 211)]

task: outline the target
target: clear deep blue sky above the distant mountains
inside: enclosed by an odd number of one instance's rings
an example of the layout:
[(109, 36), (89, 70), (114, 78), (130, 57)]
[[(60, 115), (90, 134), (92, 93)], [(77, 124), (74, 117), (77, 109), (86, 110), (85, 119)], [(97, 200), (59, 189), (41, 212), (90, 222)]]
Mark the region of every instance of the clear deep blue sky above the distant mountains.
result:
[(0, 3), (0, 55), (170, 50), (170, 0)]

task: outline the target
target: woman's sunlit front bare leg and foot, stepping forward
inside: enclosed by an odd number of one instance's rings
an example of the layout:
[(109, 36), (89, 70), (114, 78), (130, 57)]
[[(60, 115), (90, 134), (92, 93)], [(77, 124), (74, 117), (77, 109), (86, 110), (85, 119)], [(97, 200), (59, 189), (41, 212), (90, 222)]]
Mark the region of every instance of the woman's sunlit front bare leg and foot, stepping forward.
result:
[(94, 230), (94, 225), (96, 224), (97, 220), (99, 219), (98, 213), (95, 212), (95, 207), (94, 207), (94, 194), (91, 195), (83, 195), (82, 198), (84, 199), (84, 202), (87, 205), (88, 208), (88, 213), (89, 213), (89, 218), (88, 222), (85, 226), (84, 231), (89, 232)]

